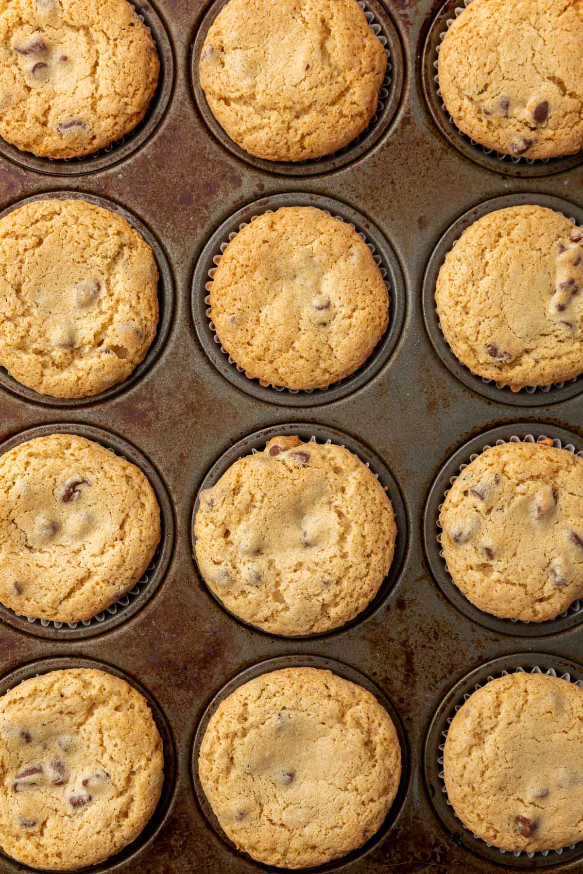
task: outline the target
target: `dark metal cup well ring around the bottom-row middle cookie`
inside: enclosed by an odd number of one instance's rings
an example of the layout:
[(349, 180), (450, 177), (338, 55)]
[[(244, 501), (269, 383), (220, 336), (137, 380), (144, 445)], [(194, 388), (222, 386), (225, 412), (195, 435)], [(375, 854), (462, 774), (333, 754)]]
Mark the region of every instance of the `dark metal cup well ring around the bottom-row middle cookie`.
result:
[[(229, 850), (232, 850), (233, 854), (236, 857), (238, 857), (239, 859), (244, 858), (246, 861), (253, 861), (253, 865), (260, 871), (275, 870), (273, 865), (265, 865), (260, 862), (256, 862), (254, 859), (251, 860), (251, 857), (243, 854), (226, 836), (223, 829), (221, 829), (219, 825), (219, 820), (214, 814), (212, 807), (206, 798), (205, 790), (203, 789), (200, 782), (200, 777), (198, 776), (198, 755), (200, 753), (200, 746), (203, 742), (203, 738), (205, 737), (205, 732), (208, 724), (213, 714), (217, 711), (219, 704), (221, 704), (221, 702), (229, 697), (229, 695), (233, 694), (236, 689), (239, 689), (239, 686), (242, 686), (244, 683), (248, 683), (250, 680), (254, 680), (256, 677), (261, 676), (262, 674), (270, 674), (274, 670), (281, 670), (284, 668), (318, 668), (323, 670), (330, 670), (333, 674), (343, 677), (344, 680), (350, 680), (350, 683), (355, 683), (357, 686), (361, 686), (366, 691), (371, 692), (371, 695), (373, 695), (377, 699), (378, 703), (385, 708), (385, 711), (387, 711), (387, 713), (391, 717), (392, 724), (395, 726), (395, 729), (397, 731), (397, 737), (399, 738), (399, 746), (401, 749), (401, 779), (399, 782), (399, 789), (397, 791), (394, 801), (392, 802), (392, 806), (385, 817), (385, 822), (383, 822), (380, 829), (378, 829), (378, 832), (373, 835), (366, 843), (364, 843), (362, 847), (359, 847), (357, 850), (353, 850), (347, 856), (335, 859), (333, 862), (330, 862), (328, 864), (318, 865), (315, 868), (296, 869), (299, 874), (302, 874), (302, 872), (305, 872), (305, 874), (309, 874), (309, 872), (314, 872), (314, 874), (320, 874), (320, 872), (323, 871), (344, 871), (345, 865), (364, 857), (371, 850), (373, 850), (378, 845), (378, 843), (380, 843), (384, 839), (388, 831), (392, 829), (392, 826), (398, 820), (400, 809), (402, 807), (403, 801), (405, 800), (407, 786), (409, 783), (409, 745), (407, 742), (405, 729), (399, 718), (399, 714), (397, 713), (397, 711), (395, 711), (389, 699), (381, 690), (378, 689), (378, 686), (375, 683), (372, 683), (372, 681), (369, 680), (367, 676), (364, 676), (364, 674), (361, 674), (359, 671), (350, 667), (347, 664), (344, 664), (343, 662), (337, 662), (334, 659), (325, 658), (320, 655), (281, 655), (275, 658), (267, 659), (264, 662), (257, 662), (256, 664), (251, 665), (251, 667), (242, 670), (236, 676), (233, 676), (233, 678), (229, 680), (206, 705), (205, 711), (203, 711), (201, 717), (199, 718), (197, 729), (194, 735), (191, 753), (191, 778), (192, 785), (194, 787), (194, 793), (198, 801), (198, 807), (205, 815), (207, 825), (215, 832), (219, 839), (226, 844)], [(279, 871), (280, 869), (277, 870)]]

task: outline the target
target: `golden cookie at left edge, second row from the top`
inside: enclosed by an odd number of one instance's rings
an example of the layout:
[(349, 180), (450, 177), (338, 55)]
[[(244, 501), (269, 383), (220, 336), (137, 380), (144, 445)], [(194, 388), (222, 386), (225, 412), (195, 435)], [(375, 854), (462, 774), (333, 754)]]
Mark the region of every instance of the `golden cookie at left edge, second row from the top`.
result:
[(0, 219), (0, 364), (55, 398), (128, 378), (158, 323), (152, 250), (125, 218), (37, 200)]

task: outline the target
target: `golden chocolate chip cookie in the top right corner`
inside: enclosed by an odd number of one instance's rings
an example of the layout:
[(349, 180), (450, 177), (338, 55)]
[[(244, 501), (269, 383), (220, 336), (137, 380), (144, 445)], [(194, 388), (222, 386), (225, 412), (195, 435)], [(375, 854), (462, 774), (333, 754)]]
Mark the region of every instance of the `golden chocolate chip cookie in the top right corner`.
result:
[(552, 158), (583, 148), (581, 0), (472, 0), (441, 44), (441, 96), (488, 149)]

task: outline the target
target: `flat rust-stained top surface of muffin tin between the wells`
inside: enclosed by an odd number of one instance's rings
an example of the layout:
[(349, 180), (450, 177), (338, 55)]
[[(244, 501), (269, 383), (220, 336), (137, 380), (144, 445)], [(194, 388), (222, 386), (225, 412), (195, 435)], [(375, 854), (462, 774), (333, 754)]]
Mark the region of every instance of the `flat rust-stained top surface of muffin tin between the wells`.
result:
[[(582, 207), (583, 170), (561, 170), (557, 164), (546, 168), (546, 176), (533, 177), (527, 170), (526, 177), (517, 177), (511, 174), (524, 172), (524, 164), (518, 169), (492, 162), (481, 166), (446, 141), (421, 85), (423, 45), (441, 6), (432, 0), (385, 2), (403, 48), (405, 83), (392, 125), (370, 151), (327, 174), (310, 170), (305, 177), (285, 177), (253, 168), (209, 133), (192, 96), (191, 45), (208, 5), (157, 0), (176, 64), (174, 87), (159, 126), (133, 154), (92, 173), (78, 165), (79, 174), (66, 177), (56, 168), (52, 174), (26, 170), (0, 158), (0, 210), (20, 198), (62, 189), (110, 198), (156, 234), (176, 283), (168, 342), (135, 384), (114, 398), (68, 408), (35, 403), (2, 388), (0, 440), (27, 427), (67, 421), (119, 434), (159, 471), (177, 523), (170, 570), (139, 613), (119, 628), (80, 641), (41, 639), (0, 622), (2, 673), (38, 659), (98, 660), (135, 677), (162, 708), (177, 751), (170, 818), (147, 849), (101, 865), (100, 871), (260, 870), (228, 849), (198, 808), (191, 745), (206, 705), (233, 675), (262, 659), (290, 654), (344, 662), (377, 683), (399, 713), (409, 746), (411, 777), (392, 829), (370, 852), (348, 864), (340, 861), (333, 870), (478, 874), (504, 867), (524, 870), (525, 862), (537, 868), (541, 857), (488, 859), (462, 845), (461, 829), (455, 835), (446, 829), (429, 799), (424, 741), (441, 699), (468, 671), (526, 652), (541, 654), (538, 661), (549, 667), (576, 662), (581, 627), (567, 624), (556, 634), (545, 628), (545, 634), (524, 637), (513, 635), (512, 628), (495, 631), (470, 620), (428, 571), (422, 518), (434, 477), (466, 440), (515, 422), (539, 423), (538, 433), (551, 435), (554, 426), (563, 427), (581, 437), (581, 396), (552, 403), (552, 392), (538, 393), (534, 406), (532, 398), (529, 406), (511, 406), (503, 403), (503, 395), (484, 397), (462, 385), (429, 341), (421, 290), (434, 246), (462, 213), (488, 198), (521, 192), (566, 198)], [(364, 213), (389, 240), (406, 281), (405, 323), (389, 362), (357, 392), (323, 406), (276, 406), (240, 392), (205, 356), (191, 320), (191, 277), (212, 232), (255, 199), (297, 191), (336, 198)], [(406, 558), (382, 607), (345, 632), (311, 641), (275, 639), (234, 621), (205, 592), (191, 560), (191, 510), (208, 469), (236, 440), (290, 421), (337, 428), (371, 447), (399, 484), (409, 524)], [(545, 864), (549, 861), (555, 871), (581, 870), (577, 861), (565, 864), (558, 856), (547, 857)], [(0, 871), (22, 870), (0, 858)]]

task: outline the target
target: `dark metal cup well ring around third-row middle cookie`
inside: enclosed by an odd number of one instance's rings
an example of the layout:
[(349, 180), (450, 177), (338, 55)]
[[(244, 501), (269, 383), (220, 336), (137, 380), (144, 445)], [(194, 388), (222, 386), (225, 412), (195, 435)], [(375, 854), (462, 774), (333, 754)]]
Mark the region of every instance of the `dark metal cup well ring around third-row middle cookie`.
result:
[[(357, 458), (359, 458), (360, 461), (362, 461), (367, 468), (371, 469), (372, 473), (376, 476), (381, 485), (385, 487), (386, 495), (389, 497), (392, 503), (395, 524), (397, 525), (397, 538), (395, 539), (395, 550), (392, 557), (391, 567), (385, 579), (381, 583), (375, 597), (371, 600), (369, 604), (366, 605), (366, 607), (364, 607), (364, 609), (359, 614), (357, 614), (357, 616), (354, 617), (354, 619), (351, 619), (350, 621), (346, 622), (342, 626), (339, 626), (338, 628), (330, 628), (329, 631), (322, 631), (312, 635), (275, 635), (272, 632), (264, 631), (262, 628), (257, 628), (246, 620), (240, 619), (239, 616), (233, 614), (230, 610), (228, 610), (223, 602), (219, 599), (219, 597), (212, 592), (209, 586), (206, 585), (205, 578), (198, 569), (198, 563), (196, 558), (196, 538), (194, 537), (194, 522), (198, 513), (200, 492), (203, 489), (210, 489), (213, 485), (215, 485), (216, 482), (219, 481), (220, 477), (226, 473), (226, 470), (228, 470), (228, 468), (231, 468), (235, 461), (239, 461), (239, 458), (244, 458), (246, 455), (249, 454), (254, 455), (262, 452), (265, 449), (268, 440), (271, 440), (273, 437), (289, 436), (297, 436), (305, 442), (310, 441), (315, 443), (334, 443), (337, 446), (348, 449), (352, 454), (355, 454)], [(355, 625), (364, 621), (365, 619), (368, 619), (372, 614), (377, 613), (378, 609), (383, 606), (385, 600), (391, 593), (393, 586), (399, 579), (400, 570), (406, 556), (407, 544), (408, 520), (406, 515), (405, 503), (403, 502), (403, 498), (401, 496), (397, 482), (395, 482), (394, 477), (392, 476), (389, 469), (385, 467), (385, 464), (378, 458), (377, 455), (371, 453), (370, 449), (364, 447), (362, 443), (360, 443), (358, 440), (354, 440), (354, 438), (350, 437), (348, 434), (344, 434), (342, 431), (337, 431), (336, 428), (324, 427), (320, 425), (310, 425), (301, 422), (262, 428), (260, 431), (256, 431), (254, 434), (249, 434), (242, 440), (238, 440), (237, 443), (227, 449), (226, 452), (219, 457), (218, 461), (215, 461), (215, 463), (212, 465), (212, 468), (205, 476), (203, 482), (200, 483), (191, 515), (192, 560), (197, 568), (198, 577), (202, 582), (202, 587), (205, 592), (211, 595), (212, 599), (216, 601), (217, 604), (219, 604), (219, 607), (225, 610), (226, 614), (231, 616), (235, 621), (240, 622), (246, 628), (251, 628), (253, 631), (257, 632), (260, 635), (267, 635), (268, 637), (278, 638), (282, 641), (316, 640), (317, 638), (341, 634), (342, 632), (347, 631), (349, 628), (353, 628)]]

